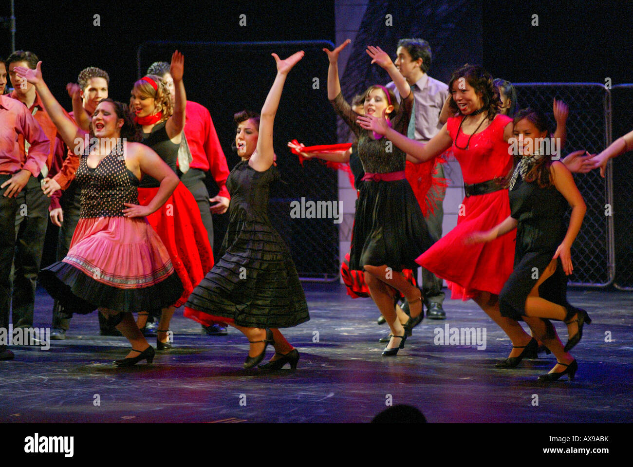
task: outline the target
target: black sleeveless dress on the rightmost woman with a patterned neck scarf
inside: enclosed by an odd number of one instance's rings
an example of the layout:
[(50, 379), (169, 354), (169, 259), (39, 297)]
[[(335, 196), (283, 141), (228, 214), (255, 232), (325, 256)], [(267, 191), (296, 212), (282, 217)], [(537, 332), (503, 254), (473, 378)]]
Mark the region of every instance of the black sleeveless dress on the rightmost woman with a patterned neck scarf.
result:
[[(518, 220), (514, 270), (499, 294), (501, 315), (525, 316), (525, 301), (567, 234), (568, 203), (556, 187), (539, 188), (519, 175), (510, 190), (511, 216)], [(567, 276), (558, 258), (556, 271), (539, 285), (539, 296), (567, 306)]]

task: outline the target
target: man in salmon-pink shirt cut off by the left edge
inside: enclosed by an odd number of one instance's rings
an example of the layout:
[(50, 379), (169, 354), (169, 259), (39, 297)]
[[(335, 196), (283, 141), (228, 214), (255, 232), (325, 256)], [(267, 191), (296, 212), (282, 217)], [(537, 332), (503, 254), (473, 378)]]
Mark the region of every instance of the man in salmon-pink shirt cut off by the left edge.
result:
[[(25, 141), (27, 151), (24, 148)], [(16, 219), (27, 216), (30, 218), (33, 214), (41, 221), (42, 213), (40, 212), (39, 216), (38, 213), (32, 213), (30, 205), (25, 201), (36, 191), (42, 192), (37, 177), (42, 167), (46, 167), (50, 151), (51, 142), (32, 111), (17, 100), (0, 94), (0, 328), (4, 330), (8, 330), (9, 327), (10, 271), (15, 246), (16, 242), (24, 241), (23, 237), (16, 240)], [(35, 183), (32, 183), (32, 180)], [(41, 239), (43, 242), (43, 233)], [(23, 249), (23, 245), (20, 244), (18, 249)], [(40, 257), (41, 253), (40, 248)], [(39, 267), (39, 261), (37, 266)], [(37, 268), (35, 275), (37, 276)], [(13, 300), (15, 311), (15, 296)], [(13, 352), (6, 348), (7, 344), (8, 342), (0, 340), (0, 360), (13, 358)]]

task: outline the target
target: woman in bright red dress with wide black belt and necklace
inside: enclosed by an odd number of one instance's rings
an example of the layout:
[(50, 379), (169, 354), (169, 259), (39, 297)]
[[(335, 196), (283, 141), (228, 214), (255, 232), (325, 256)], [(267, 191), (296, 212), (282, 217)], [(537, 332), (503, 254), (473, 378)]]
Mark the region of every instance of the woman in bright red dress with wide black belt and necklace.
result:
[[(387, 126), (384, 118), (361, 116), (363, 128), (385, 135), (395, 146), (420, 161), (451, 149), (460, 163), (466, 197), (458, 210), (457, 226), (416, 259), (418, 265), (444, 278), (451, 298), (473, 299), (510, 337), (510, 356), (499, 368), (513, 368), (523, 358), (536, 358), (538, 344), (518, 321), (501, 316), (499, 292), (513, 270), (515, 234), (487, 244), (466, 245), (472, 232), (489, 230), (510, 215), (508, 190), (503, 180), (513, 168), (508, 140), (513, 137), (510, 117), (500, 115), (499, 91), (480, 66), (465, 65), (449, 82), (453, 115), (427, 144), (408, 139)], [(572, 171), (579, 171), (579, 160)], [(412, 313), (413, 316), (413, 313)], [(413, 316), (415, 317), (415, 316)]]

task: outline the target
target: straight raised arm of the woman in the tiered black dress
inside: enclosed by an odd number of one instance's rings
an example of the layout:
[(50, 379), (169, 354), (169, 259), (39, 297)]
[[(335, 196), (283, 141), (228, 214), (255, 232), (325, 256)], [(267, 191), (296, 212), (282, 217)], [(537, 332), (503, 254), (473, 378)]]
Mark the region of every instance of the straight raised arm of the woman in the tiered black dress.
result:
[(281, 99), (281, 92), (284, 89), (285, 78), (290, 70), (292, 70), (292, 67), (303, 58), (304, 52), (302, 50), (294, 53), (285, 60), (280, 59), (277, 54), (272, 54), (272, 56), (277, 62), (277, 76), (270, 91), (268, 91), (264, 106), (261, 108), (257, 148), (248, 161), (249, 166), (260, 172), (268, 170), (275, 160), (275, 150), (273, 149), (273, 123), (275, 123), (275, 114), (279, 107), (279, 100)]

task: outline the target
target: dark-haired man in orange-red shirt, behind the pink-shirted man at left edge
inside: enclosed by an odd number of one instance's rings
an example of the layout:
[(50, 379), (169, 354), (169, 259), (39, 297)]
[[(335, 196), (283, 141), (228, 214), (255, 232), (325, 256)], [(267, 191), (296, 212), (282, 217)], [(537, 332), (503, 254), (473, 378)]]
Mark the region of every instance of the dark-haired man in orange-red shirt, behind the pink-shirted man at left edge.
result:
[[(48, 175), (55, 152), (63, 151), (63, 145), (56, 142), (57, 128), (44, 110), (42, 101), (35, 92), (35, 86), (20, 79), (14, 70), (16, 66), (28, 66), (34, 70), (37, 61), (37, 56), (32, 52), (15, 51), (6, 59), (6, 68), (9, 70), (9, 78), (14, 88), (10, 96), (26, 106), (27, 111), (34, 116), (49, 139), (47, 158), (40, 167), (41, 172), (38, 173), (39, 178), (42, 179)], [(28, 142), (25, 144), (22, 136), (18, 137), (20, 154), (27, 154), (30, 150), (29, 146)], [(15, 216), (16, 254), (13, 261), (15, 275), (12, 307), (15, 328), (33, 326), (35, 287), (44, 249), (49, 204), (49, 199), (42, 192), (40, 180), (29, 177), (27, 185), (18, 195), (18, 205), (26, 206), (27, 212), (18, 213)]]

